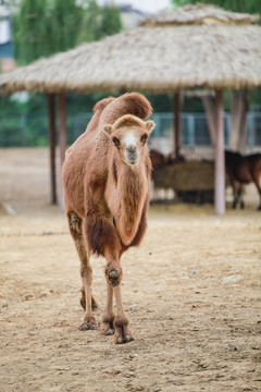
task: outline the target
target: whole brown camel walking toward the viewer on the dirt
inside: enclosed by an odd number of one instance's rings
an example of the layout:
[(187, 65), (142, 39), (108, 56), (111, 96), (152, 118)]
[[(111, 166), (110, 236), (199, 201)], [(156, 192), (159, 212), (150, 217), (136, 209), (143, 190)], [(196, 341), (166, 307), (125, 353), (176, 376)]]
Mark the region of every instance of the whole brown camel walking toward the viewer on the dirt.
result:
[(80, 259), (80, 304), (86, 309), (79, 330), (98, 329), (89, 261), (96, 254), (107, 261), (101, 332), (114, 334), (116, 344), (134, 340), (122, 305), (121, 257), (140, 244), (147, 229), (151, 175), (147, 139), (154, 123), (146, 119), (151, 112), (150, 102), (137, 93), (99, 101), (86, 132), (67, 150), (63, 164), (65, 210)]

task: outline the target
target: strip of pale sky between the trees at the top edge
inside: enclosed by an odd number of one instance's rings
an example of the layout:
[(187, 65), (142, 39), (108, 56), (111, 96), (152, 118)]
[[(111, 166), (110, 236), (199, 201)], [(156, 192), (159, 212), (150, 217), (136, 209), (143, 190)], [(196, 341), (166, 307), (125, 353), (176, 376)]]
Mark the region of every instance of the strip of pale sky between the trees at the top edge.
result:
[(133, 8), (146, 11), (150, 13), (157, 13), (166, 7), (170, 7), (171, 0), (100, 0), (100, 3), (110, 3), (114, 2), (115, 4), (130, 4)]

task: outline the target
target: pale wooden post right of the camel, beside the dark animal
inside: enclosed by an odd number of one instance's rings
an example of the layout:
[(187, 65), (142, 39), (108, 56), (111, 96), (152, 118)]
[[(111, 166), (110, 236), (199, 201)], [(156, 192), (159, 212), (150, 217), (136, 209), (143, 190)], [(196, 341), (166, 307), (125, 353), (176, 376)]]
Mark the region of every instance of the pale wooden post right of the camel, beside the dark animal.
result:
[(216, 139), (215, 139), (215, 212), (225, 213), (225, 151), (224, 151), (224, 102), (223, 90), (215, 91)]

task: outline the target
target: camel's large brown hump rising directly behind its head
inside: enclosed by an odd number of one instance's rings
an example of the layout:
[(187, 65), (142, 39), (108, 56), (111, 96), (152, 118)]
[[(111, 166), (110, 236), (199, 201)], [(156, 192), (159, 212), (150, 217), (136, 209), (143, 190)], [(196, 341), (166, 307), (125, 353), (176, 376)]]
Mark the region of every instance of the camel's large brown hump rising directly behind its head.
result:
[(144, 95), (138, 93), (127, 93), (112, 100), (104, 108), (101, 113), (100, 124), (113, 124), (124, 114), (133, 114), (141, 120), (146, 120), (151, 113), (151, 105)]

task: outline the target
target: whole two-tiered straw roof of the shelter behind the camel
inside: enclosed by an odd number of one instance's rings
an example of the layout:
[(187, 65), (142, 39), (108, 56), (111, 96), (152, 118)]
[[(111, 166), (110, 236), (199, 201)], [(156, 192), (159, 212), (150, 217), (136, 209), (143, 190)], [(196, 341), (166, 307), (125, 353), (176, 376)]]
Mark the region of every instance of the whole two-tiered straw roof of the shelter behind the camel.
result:
[(256, 16), (186, 7), (151, 21), (1, 75), (0, 93), (158, 94), (195, 86), (261, 86), (261, 27), (252, 24)]

